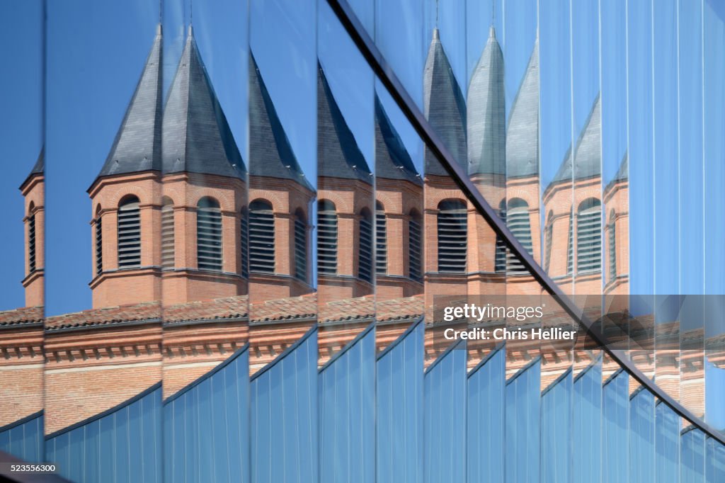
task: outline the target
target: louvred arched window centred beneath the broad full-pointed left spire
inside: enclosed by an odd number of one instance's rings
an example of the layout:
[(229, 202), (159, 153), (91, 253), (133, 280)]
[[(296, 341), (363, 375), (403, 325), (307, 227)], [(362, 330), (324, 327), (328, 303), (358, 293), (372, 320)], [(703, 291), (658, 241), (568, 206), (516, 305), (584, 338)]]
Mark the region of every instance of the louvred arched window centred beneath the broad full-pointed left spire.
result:
[(196, 204), (196, 265), (199, 270), (222, 269), (222, 212), (210, 197)]

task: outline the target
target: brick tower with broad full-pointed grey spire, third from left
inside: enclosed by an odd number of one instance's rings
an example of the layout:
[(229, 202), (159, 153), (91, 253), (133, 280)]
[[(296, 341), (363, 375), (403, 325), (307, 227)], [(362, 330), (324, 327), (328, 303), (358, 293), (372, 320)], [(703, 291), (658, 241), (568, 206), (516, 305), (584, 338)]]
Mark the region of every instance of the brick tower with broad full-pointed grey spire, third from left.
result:
[(247, 168), (191, 26), (162, 140), (162, 223), (154, 236), (164, 305), (247, 294)]

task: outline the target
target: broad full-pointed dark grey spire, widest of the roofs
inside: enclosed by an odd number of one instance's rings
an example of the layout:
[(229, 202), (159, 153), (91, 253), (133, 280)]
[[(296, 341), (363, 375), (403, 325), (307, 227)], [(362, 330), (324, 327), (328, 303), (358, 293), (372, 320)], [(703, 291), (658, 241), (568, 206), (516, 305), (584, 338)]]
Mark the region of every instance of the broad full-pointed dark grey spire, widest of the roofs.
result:
[(166, 100), (162, 144), (164, 173), (244, 178), (244, 161), (191, 27)]

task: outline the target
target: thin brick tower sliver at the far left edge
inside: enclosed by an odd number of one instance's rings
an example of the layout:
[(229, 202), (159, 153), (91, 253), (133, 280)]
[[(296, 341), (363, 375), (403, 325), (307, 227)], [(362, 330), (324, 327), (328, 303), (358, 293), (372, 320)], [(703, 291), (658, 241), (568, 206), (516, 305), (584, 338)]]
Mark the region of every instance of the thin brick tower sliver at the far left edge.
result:
[(20, 185), (25, 198), (25, 307), (45, 303), (45, 150)]

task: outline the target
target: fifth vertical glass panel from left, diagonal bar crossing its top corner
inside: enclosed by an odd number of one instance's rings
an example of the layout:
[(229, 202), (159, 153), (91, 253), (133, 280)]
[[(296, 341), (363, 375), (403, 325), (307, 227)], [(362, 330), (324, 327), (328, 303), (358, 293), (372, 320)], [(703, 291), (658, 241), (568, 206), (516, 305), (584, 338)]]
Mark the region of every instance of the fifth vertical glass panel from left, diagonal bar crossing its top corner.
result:
[[(375, 198), (374, 80), (323, 0), (317, 68), (318, 226), (325, 224), (326, 241), (326, 252), (318, 251), (318, 260), (326, 257), (319, 265), (324, 271), (318, 268), (320, 481), (372, 482), (376, 229), (384, 229), (383, 223), (377, 226), (381, 210)], [(322, 234), (320, 229), (320, 241)], [(385, 244), (379, 248), (386, 253)]]

